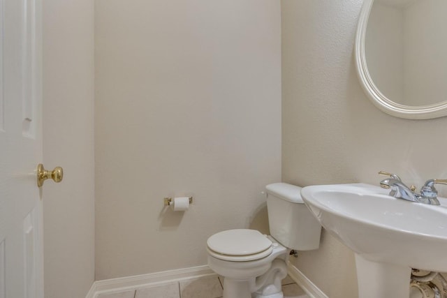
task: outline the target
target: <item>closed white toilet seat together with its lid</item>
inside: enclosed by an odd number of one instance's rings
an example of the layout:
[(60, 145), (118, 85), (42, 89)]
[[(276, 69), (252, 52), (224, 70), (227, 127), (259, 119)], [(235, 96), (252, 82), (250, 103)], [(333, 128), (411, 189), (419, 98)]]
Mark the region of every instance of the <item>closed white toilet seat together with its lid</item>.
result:
[(207, 251), (214, 258), (234, 262), (259, 260), (272, 253), (272, 241), (257, 230), (226, 230), (212, 235)]

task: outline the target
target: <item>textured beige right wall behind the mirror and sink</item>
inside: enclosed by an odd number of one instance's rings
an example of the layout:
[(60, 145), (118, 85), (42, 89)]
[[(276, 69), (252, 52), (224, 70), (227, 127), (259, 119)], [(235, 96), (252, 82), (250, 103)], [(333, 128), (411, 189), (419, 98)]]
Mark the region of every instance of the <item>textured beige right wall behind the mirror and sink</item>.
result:
[[(405, 120), (379, 111), (356, 76), (360, 0), (282, 0), (283, 181), (377, 184), (379, 170), (408, 184), (447, 177), (447, 118)], [(428, 158), (427, 158), (428, 156)], [(441, 195), (447, 188), (440, 186)], [(328, 234), (295, 265), (330, 298), (357, 297), (353, 254)]]

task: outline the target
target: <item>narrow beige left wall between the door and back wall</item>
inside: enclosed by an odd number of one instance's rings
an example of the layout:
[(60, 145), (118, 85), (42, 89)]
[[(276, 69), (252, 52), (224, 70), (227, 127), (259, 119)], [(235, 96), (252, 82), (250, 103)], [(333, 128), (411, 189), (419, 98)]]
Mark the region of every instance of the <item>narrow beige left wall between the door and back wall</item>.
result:
[(45, 298), (85, 297), (94, 281), (94, 4), (43, 1)]

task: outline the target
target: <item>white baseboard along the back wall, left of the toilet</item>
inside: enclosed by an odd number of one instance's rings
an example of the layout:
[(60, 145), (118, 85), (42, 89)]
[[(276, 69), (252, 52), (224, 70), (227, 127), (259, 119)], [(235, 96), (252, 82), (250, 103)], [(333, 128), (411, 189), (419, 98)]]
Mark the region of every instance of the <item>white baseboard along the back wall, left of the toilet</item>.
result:
[(173, 281), (186, 281), (205, 276), (217, 276), (217, 274), (215, 274), (208, 265), (205, 265), (95, 281), (93, 285), (91, 285), (89, 293), (85, 298), (96, 298), (99, 294), (112, 294), (115, 292), (135, 290), (152, 285), (163, 285), (164, 283), (172, 283)]

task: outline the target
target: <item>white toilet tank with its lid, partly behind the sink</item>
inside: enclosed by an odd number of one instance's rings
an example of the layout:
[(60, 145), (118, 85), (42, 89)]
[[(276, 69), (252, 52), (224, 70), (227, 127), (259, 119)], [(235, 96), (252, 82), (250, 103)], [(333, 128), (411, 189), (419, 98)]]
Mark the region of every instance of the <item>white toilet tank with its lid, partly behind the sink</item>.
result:
[(301, 188), (286, 183), (269, 184), (265, 188), (270, 235), (297, 251), (317, 249), (321, 225), (303, 202)]

